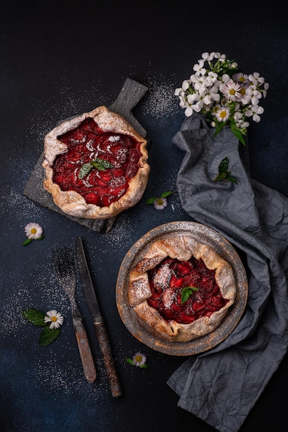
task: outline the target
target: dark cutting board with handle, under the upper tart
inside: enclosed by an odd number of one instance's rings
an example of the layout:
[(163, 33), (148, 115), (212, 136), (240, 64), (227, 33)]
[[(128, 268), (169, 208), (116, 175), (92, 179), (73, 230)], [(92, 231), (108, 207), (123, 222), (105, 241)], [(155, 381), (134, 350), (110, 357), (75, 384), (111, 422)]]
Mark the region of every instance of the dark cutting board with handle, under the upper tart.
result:
[[(141, 137), (147, 139), (147, 132), (138, 123), (132, 114), (132, 109), (138, 104), (138, 101), (145, 95), (148, 88), (143, 86), (143, 84), (139, 84), (137, 81), (134, 81), (131, 78), (127, 78), (121, 91), (113, 102), (109, 110), (117, 112), (122, 117), (124, 117), (131, 126), (138, 132)], [(149, 140), (148, 140), (149, 141)], [(99, 231), (100, 233), (107, 233), (112, 228), (116, 217), (112, 217), (111, 219), (85, 219), (83, 217), (74, 217), (67, 215), (64, 213), (59, 207), (54, 204), (52, 199), (52, 195), (45, 190), (43, 186), (43, 179), (45, 178), (45, 170), (42, 166), (43, 162), (43, 153), (39, 157), (36, 166), (34, 166), (34, 170), (30, 175), (25, 188), (23, 190), (23, 195), (32, 199), (34, 202), (41, 204), (41, 206), (48, 207), (50, 210), (54, 210), (60, 215), (68, 217), (74, 222), (77, 222), (81, 225), (86, 226), (90, 230)]]

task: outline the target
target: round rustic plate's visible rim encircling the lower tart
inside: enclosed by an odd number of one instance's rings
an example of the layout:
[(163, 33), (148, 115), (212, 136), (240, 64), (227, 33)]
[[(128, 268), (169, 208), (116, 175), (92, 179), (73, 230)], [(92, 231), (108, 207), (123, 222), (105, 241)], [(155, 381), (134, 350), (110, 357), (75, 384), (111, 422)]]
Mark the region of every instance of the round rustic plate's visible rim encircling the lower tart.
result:
[[(236, 280), (236, 298), (234, 304), (221, 324), (211, 333), (197, 337), (189, 342), (169, 342), (162, 339), (152, 328), (138, 318), (134, 309), (128, 303), (128, 284), (130, 269), (138, 262), (156, 240), (165, 238), (171, 233), (189, 235), (196, 242), (206, 244), (223, 257), (233, 268)], [(245, 311), (248, 295), (247, 275), (243, 263), (233, 246), (222, 235), (212, 228), (197, 222), (170, 222), (158, 226), (143, 235), (126, 253), (116, 282), (116, 304), (121, 320), (127, 329), (143, 344), (156, 351), (170, 355), (194, 355), (207, 351), (220, 344), (229, 336), (240, 321)]]

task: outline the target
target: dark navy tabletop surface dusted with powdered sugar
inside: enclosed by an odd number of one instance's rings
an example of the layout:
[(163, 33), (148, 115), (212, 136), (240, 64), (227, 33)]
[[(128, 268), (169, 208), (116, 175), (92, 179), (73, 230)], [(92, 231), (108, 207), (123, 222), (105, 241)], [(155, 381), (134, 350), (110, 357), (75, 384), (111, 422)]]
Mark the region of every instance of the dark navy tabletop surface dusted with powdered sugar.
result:
[[(187, 1), (2, 1), (0, 22), (1, 303), (0, 423), (5, 432), (215, 431), (177, 407), (166, 384), (186, 357), (153, 351), (127, 331), (115, 303), (119, 267), (148, 230), (191, 220), (177, 196), (157, 211), (145, 199), (175, 190), (183, 153), (172, 137), (184, 119), (174, 89), (192, 74), (202, 52), (219, 51), (270, 84), (259, 124), (249, 126), (251, 176), (288, 196), (287, 14), (267, 6)], [(112, 104), (127, 77), (149, 88), (134, 115), (147, 130), (150, 180), (141, 202), (117, 217), (110, 233), (95, 233), (23, 196), (61, 119)], [(22, 246), (28, 222), (45, 239)], [(68, 299), (52, 265), (52, 249), (81, 236), (123, 386), (114, 400), (92, 320), (80, 291), (99, 377), (83, 378)], [(30, 306), (65, 315), (54, 344), (37, 346), (40, 328), (21, 318)], [(125, 362), (136, 351), (150, 369)], [(288, 427), (287, 356), (240, 432)]]

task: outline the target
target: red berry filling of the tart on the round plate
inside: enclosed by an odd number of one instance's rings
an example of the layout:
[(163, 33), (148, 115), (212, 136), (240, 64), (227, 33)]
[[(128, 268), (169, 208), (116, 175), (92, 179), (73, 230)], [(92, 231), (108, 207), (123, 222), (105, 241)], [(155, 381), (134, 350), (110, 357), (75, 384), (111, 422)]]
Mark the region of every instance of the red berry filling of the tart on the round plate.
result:
[[(189, 324), (200, 317), (209, 317), (227, 303), (215, 280), (215, 271), (209, 270), (202, 259), (189, 261), (165, 258), (148, 271), (151, 297), (148, 304), (167, 320)], [(194, 291), (182, 302), (183, 288), (194, 286)]]

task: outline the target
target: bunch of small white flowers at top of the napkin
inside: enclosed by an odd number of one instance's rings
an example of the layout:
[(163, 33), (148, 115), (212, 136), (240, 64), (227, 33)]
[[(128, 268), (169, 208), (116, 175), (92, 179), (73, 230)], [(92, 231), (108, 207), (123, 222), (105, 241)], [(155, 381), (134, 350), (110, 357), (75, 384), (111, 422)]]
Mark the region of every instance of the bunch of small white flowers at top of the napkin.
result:
[[(260, 120), (263, 108), (259, 107), (261, 97), (266, 97), (269, 84), (258, 72), (240, 72), (238, 63), (227, 59), (220, 52), (203, 52), (202, 58), (193, 66), (194, 73), (183, 81), (182, 88), (175, 90), (185, 116), (202, 113), (217, 129), (221, 123), (234, 126), (236, 137), (246, 134), (249, 122)], [(231, 113), (233, 112), (233, 117)], [(235, 130), (235, 127), (237, 130)], [(240, 141), (245, 145), (243, 139)]]

